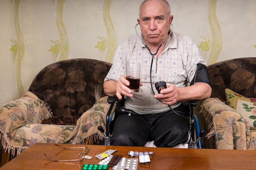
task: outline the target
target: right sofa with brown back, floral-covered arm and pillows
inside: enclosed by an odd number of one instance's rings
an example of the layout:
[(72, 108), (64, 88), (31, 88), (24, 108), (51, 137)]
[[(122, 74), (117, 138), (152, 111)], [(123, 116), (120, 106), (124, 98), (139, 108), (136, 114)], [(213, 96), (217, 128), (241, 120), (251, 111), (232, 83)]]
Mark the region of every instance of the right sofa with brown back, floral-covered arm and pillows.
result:
[(212, 93), (201, 105), (204, 148), (256, 149), (256, 57), (207, 66)]

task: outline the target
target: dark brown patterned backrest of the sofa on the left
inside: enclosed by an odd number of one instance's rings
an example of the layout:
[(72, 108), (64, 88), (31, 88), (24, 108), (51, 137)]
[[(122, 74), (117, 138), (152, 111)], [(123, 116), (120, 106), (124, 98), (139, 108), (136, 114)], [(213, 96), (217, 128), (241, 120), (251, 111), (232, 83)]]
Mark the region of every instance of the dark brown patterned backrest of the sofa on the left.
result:
[(29, 91), (47, 102), (53, 116), (81, 116), (106, 96), (103, 82), (112, 64), (93, 59), (70, 59), (43, 68)]

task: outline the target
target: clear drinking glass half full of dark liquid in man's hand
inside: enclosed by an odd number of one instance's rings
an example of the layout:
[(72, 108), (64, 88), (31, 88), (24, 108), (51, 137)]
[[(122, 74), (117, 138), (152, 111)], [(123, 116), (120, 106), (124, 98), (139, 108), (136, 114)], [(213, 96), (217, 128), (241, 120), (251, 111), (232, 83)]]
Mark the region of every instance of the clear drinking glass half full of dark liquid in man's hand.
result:
[(126, 63), (126, 79), (132, 92), (139, 92), (141, 66), (140, 63)]

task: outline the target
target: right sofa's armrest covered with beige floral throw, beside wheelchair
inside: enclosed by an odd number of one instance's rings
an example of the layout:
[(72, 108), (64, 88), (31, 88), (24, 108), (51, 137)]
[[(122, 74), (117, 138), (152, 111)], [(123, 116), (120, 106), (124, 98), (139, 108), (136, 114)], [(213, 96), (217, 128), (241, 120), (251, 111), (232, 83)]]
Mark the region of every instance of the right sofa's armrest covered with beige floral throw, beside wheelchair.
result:
[(217, 149), (247, 150), (249, 124), (240, 113), (217, 98), (204, 100), (201, 108), (210, 129), (206, 137), (215, 138)]

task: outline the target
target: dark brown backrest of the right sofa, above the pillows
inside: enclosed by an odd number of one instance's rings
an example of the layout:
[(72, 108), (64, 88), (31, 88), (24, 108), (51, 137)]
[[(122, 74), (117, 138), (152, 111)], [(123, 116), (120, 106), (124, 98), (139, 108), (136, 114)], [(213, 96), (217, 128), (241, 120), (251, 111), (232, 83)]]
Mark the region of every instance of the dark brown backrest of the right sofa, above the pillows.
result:
[(256, 57), (236, 58), (207, 66), (212, 84), (211, 97), (226, 101), (225, 89), (256, 98)]

